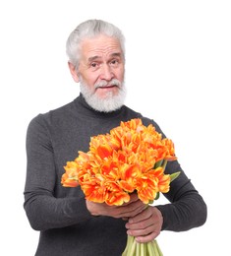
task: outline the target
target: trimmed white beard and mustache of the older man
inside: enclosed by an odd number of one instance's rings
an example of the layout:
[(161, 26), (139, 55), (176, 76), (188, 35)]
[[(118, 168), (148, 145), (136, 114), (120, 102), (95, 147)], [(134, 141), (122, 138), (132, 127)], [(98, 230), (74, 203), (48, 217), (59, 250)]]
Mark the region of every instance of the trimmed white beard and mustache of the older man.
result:
[(106, 85), (116, 85), (118, 87), (118, 95), (113, 96), (112, 92), (108, 92), (104, 98), (101, 98), (94, 94), (94, 91), (89, 90), (87, 85), (80, 79), (81, 93), (85, 97), (87, 104), (93, 109), (100, 112), (112, 112), (119, 109), (125, 102), (126, 89), (124, 83), (120, 83), (118, 80), (114, 79), (107, 83), (106, 81), (101, 81), (99, 84), (94, 85), (94, 89), (98, 87), (103, 87)]

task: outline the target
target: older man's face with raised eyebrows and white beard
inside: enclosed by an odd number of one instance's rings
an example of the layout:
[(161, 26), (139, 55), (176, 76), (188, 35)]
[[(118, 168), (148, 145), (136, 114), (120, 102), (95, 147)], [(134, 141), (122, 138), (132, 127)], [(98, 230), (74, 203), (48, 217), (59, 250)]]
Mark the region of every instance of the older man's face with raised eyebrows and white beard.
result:
[(81, 83), (87, 103), (99, 111), (119, 108), (125, 98), (124, 56), (120, 42), (106, 35), (87, 38), (81, 43), (81, 53), (79, 81), (75, 81)]

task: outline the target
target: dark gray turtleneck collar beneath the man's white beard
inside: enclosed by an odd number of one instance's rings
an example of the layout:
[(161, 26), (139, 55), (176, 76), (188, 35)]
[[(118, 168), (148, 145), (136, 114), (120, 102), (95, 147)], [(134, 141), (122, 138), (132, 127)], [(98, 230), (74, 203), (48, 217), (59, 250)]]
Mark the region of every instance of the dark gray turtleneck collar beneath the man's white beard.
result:
[(97, 111), (97, 110), (93, 109), (90, 105), (87, 104), (87, 101), (82, 94), (80, 94), (80, 96), (78, 96), (74, 101), (75, 101), (75, 104), (76, 104), (78, 110), (81, 110), (84, 115), (90, 116), (90, 117), (113, 118), (113, 117), (121, 114), (124, 109), (124, 105), (123, 105), (121, 108), (119, 108), (115, 111), (111, 111), (111, 112)]

